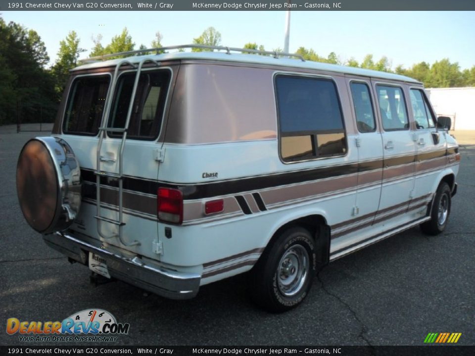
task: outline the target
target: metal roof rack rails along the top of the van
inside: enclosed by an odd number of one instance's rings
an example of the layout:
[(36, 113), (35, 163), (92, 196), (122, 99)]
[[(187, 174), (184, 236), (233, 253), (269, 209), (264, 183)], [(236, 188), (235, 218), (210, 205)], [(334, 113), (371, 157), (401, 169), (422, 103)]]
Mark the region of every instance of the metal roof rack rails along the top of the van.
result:
[(285, 53), (285, 52), (278, 52), (278, 51), (261, 51), (257, 49), (250, 49), (250, 48), (237, 48), (237, 47), (226, 47), (226, 46), (211, 46), (211, 45), (174, 45), (174, 46), (166, 46), (166, 47), (156, 47), (156, 48), (146, 48), (146, 49), (137, 49), (133, 51), (127, 52), (118, 52), (118, 53), (111, 53), (111, 54), (104, 54), (100, 56), (95, 56), (91, 58), (81, 59), (80, 62), (88, 63), (93, 61), (101, 61), (111, 57), (117, 56), (126, 56), (126, 55), (133, 55), (133, 54), (146, 54), (148, 52), (155, 52), (156, 54), (163, 53), (169, 49), (184, 49), (184, 48), (200, 48), (200, 49), (216, 49), (218, 51), (224, 50), (227, 54), (231, 54), (231, 52), (240, 52), (240, 53), (256, 53), (256, 54), (265, 54), (265, 55), (272, 55), (274, 58), (279, 57), (296, 57), (300, 59), (302, 62), (305, 62), (305, 59), (300, 54), (294, 53)]

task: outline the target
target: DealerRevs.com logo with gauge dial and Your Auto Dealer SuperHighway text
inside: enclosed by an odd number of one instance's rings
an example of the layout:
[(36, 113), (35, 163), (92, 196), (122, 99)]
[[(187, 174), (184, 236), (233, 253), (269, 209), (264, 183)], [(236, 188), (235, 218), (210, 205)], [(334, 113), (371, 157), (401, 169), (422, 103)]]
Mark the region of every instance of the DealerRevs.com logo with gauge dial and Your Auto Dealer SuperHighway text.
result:
[(129, 333), (129, 323), (118, 323), (110, 312), (86, 309), (63, 321), (6, 320), (6, 332), (22, 342), (114, 342)]

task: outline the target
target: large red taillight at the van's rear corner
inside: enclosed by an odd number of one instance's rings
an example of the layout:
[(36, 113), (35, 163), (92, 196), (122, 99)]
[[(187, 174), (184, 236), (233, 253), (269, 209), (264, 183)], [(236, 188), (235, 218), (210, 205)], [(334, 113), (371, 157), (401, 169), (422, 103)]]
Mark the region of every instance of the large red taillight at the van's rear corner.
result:
[(166, 223), (183, 222), (183, 194), (178, 189), (158, 188), (158, 220)]

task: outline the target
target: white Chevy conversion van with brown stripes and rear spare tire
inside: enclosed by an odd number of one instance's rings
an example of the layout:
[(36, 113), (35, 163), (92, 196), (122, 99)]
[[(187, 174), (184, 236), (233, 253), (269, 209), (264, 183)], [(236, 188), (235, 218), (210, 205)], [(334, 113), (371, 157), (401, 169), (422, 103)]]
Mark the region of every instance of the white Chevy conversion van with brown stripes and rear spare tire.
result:
[(421, 83), (214, 49), (71, 71), (52, 135), (17, 167), (50, 247), (173, 299), (250, 271), (252, 297), (281, 312), (329, 261), (444, 230), (460, 154)]

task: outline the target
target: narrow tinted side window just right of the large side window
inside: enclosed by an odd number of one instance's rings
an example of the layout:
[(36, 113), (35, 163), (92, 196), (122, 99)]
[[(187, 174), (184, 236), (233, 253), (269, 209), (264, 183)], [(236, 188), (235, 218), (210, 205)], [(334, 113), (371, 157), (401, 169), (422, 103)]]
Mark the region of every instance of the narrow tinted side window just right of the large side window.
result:
[(375, 114), (370, 89), (364, 83), (351, 83), (351, 96), (356, 114), (356, 126), (361, 133), (376, 130)]

